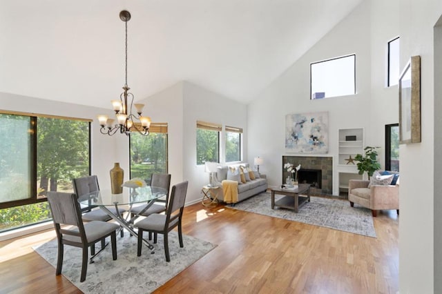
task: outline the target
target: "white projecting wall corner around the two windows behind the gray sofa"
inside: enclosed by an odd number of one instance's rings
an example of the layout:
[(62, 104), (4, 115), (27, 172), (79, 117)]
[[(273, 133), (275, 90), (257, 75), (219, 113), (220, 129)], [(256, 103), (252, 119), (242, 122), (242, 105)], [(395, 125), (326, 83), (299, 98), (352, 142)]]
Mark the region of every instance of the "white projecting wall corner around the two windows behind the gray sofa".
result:
[[(188, 180), (186, 203), (200, 202), (201, 188), (208, 184), (209, 174), (204, 172), (204, 165), (196, 164), (196, 121), (243, 128), (244, 136), (247, 136), (247, 106), (188, 81), (175, 84), (140, 102), (146, 104), (145, 111), (152, 121), (169, 124), (168, 168), (172, 175), (171, 185)], [(220, 153), (224, 154), (224, 128), (220, 145)], [(247, 145), (243, 149), (247, 150)]]

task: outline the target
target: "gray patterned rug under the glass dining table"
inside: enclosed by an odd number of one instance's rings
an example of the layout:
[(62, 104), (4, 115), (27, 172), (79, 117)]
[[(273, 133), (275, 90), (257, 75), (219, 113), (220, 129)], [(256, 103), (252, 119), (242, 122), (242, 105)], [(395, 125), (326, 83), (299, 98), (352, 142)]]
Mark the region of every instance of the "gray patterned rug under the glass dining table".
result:
[[(184, 268), (209, 253), (214, 244), (189, 235), (183, 235), (184, 248), (180, 248), (175, 231), (169, 234), (171, 261), (166, 262), (162, 235), (158, 235), (155, 254), (144, 246), (137, 257), (137, 237), (117, 236), (117, 260), (112, 259), (111, 244), (99, 253), (93, 264), (88, 264), (86, 281), (81, 275), (81, 248), (64, 246), (64, 262), (61, 274), (84, 293), (151, 293), (175, 277)], [(110, 242), (110, 238), (108, 241)], [(101, 248), (96, 244), (96, 251)], [(34, 250), (52, 266), (57, 266), (57, 239), (35, 246)]]

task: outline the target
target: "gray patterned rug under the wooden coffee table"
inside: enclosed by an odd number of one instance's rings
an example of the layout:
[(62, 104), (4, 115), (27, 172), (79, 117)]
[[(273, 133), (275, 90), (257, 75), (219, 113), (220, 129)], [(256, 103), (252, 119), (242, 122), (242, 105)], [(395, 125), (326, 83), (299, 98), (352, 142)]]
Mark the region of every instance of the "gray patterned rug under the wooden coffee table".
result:
[[(283, 197), (275, 195), (275, 201)], [(310, 202), (303, 204), (298, 213), (286, 208), (271, 209), (271, 193), (265, 192), (238, 202), (230, 208), (289, 219), (295, 222), (334, 228), (335, 230), (376, 237), (372, 212), (368, 208), (355, 205), (351, 207), (348, 201), (323, 197), (310, 197)]]

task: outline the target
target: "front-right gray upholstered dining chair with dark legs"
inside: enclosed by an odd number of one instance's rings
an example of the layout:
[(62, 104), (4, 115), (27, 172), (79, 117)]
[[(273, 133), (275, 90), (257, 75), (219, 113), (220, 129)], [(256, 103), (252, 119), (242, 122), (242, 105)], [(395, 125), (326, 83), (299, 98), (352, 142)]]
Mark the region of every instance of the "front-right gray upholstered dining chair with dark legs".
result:
[(186, 202), (187, 186), (189, 182), (185, 181), (172, 187), (169, 206), (165, 215), (153, 213), (135, 226), (138, 228), (137, 256), (141, 255), (143, 246), (143, 232), (153, 233), (153, 243), (157, 242), (157, 234), (164, 235), (164, 253), (166, 254), (166, 262), (171, 261), (169, 255), (169, 232), (176, 226), (178, 227), (178, 238), (180, 239), (180, 247), (184, 247), (182, 242), (182, 212), (184, 210), (184, 202)]

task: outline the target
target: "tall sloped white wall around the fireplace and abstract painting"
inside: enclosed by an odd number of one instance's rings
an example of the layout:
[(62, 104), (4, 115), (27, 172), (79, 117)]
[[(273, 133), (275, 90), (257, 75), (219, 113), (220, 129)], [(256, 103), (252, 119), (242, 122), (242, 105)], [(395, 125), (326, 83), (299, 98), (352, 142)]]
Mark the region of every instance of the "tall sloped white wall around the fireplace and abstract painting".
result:
[[(249, 104), (249, 161), (257, 155), (265, 159), (260, 171), (267, 174), (269, 186), (281, 184), (282, 155), (290, 155), (285, 152), (287, 114), (329, 112), (329, 153), (318, 156), (332, 156), (334, 166), (338, 160), (338, 128), (363, 127), (365, 144), (372, 145), (370, 30), (370, 6), (365, 1)], [(356, 53), (356, 95), (310, 100), (309, 64), (353, 53)], [(336, 168), (333, 178), (334, 195), (338, 195)]]

